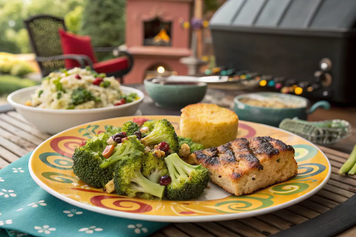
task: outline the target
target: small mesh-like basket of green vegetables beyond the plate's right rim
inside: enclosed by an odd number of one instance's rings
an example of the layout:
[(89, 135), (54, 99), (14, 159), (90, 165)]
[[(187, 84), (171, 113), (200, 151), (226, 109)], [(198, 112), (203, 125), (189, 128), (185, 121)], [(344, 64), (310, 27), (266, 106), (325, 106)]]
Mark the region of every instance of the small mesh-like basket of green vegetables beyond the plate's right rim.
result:
[(318, 145), (331, 145), (351, 135), (351, 124), (333, 119), (308, 122), (298, 118), (283, 119), (279, 128), (290, 131)]

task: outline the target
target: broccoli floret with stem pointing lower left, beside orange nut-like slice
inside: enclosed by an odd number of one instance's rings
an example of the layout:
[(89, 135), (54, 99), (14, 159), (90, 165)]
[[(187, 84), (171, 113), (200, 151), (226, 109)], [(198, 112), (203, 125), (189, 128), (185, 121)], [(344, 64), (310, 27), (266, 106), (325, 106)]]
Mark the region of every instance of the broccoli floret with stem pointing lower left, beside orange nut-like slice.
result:
[(144, 151), (145, 146), (141, 144), (140, 140), (135, 135), (129, 136), (127, 140), (115, 147), (114, 154), (101, 163), (100, 168), (105, 169), (122, 159), (141, 157)]

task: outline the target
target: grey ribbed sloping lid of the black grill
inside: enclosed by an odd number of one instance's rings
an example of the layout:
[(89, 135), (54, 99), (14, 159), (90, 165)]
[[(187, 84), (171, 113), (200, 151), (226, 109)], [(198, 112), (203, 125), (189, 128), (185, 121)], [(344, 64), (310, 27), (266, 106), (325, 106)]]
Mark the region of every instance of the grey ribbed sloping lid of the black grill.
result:
[(210, 27), (352, 32), (355, 23), (355, 0), (228, 0)]

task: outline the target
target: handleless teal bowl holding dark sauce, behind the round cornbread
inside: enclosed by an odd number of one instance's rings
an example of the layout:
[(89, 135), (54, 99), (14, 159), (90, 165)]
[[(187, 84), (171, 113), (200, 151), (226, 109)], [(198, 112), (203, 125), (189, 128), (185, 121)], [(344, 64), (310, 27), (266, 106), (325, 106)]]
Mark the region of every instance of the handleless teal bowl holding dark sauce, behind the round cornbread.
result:
[(168, 109), (181, 109), (188, 104), (199, 103), (205, 96), (207, 84), (188, 81), (145, 80), (145, 90), (156, 106)]

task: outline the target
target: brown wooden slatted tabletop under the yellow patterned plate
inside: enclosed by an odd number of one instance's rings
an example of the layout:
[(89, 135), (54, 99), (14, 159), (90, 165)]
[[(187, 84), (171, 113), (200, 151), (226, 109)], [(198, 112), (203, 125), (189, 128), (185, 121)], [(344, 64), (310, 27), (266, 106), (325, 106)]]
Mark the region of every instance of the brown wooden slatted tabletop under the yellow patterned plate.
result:
[[(0, 168), (32, 151), (50, 135), (38, 131), (20, 114), (0, 113)], [(312, 197), (286, 209), (257, 217), (209, 223), (173, 223), (153, 234), (153, 237), (264, 237), (311, 219), (344, 202), (356, 193), (356, 176), (337, 174), (347, 153), (326, 147), (320, 149), (329, 158), (330, 181)], [(355, 236), (356, 227), (339, 236)]]

